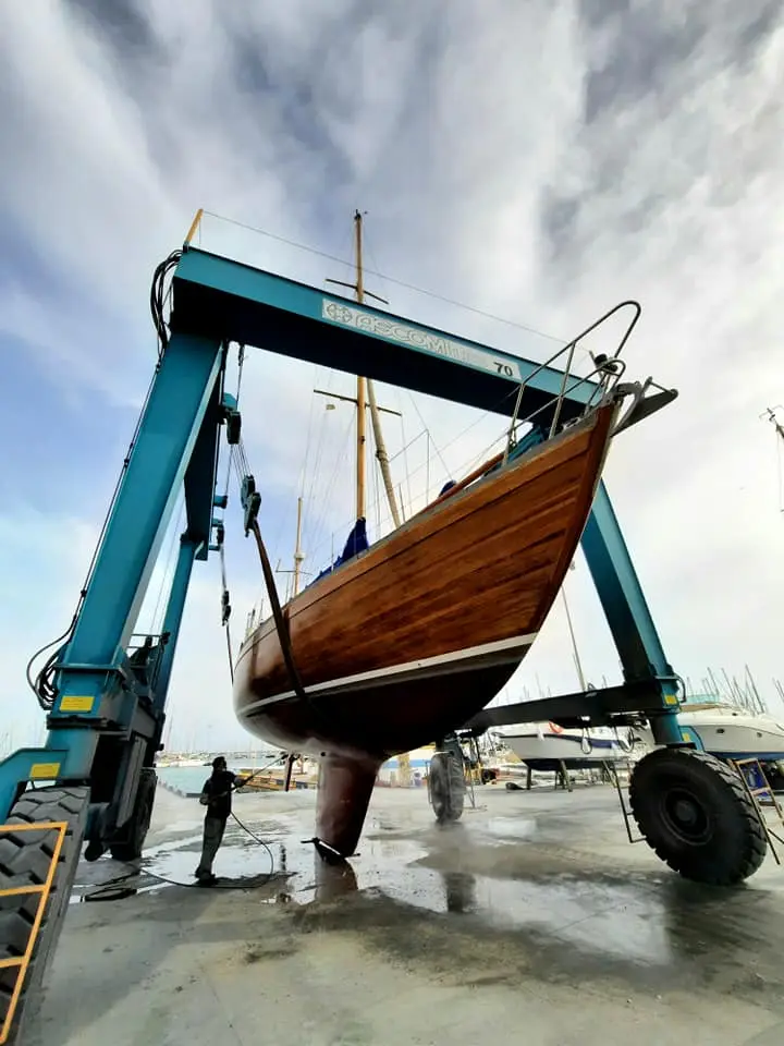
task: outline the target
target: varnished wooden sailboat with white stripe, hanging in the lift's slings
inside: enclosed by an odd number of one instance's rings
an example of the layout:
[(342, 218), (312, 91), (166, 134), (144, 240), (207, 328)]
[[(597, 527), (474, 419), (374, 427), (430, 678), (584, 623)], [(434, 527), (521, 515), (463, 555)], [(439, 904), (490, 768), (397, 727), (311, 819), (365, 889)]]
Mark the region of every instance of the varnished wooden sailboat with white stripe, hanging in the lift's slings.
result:
[[(362, 218), (355, 216), (357, 297)], [(530, 649), (590, 512), (620, 401), (524, 452), (499, 454), (368, 547), (365, 403), (357, 379), (357, 521), (334, 568), (283, 608), (302, 690), (274, 621), (240, 650), (234, 704), (247, 730), (321, 761), (317, 838), (353, 853), (381, 764), (466, 722)], [(377, 447), (383, 447), (377, 433)], [(379, 454), (382, 474), (385, 454)]]

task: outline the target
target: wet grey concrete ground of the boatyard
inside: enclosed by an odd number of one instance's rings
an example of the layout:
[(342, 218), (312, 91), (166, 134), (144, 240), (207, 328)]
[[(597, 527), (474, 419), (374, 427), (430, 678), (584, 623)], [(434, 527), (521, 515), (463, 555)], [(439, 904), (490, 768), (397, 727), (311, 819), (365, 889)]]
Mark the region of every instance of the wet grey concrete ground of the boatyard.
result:
[[(773, 1046), (784, 1036), (784, 871), (685, 883), (630, 846), (614, 791), (477, 790), (438, 829), (378, 789), (353, 871), (315, 858), (314, 792), (237, 795), (216, 871), (83, 903), (77, 877), (28, 1046)], [(146, 866), (193, 881), (201, 808), (159, 790)], [(246, 880), (253, 883), (253, 879)], [(230, 886), (231, 881), (222, 880)]]

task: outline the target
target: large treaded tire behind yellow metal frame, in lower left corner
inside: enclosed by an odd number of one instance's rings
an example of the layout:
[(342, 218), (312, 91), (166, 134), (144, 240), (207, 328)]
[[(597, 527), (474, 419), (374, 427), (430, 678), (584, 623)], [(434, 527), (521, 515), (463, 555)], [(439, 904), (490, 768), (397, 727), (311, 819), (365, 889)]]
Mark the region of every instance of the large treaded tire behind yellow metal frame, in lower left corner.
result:
[[(39, 788), (25, 792), (7, 824), (66, 822), (69, 825), (52, 888), (44, 911), (33, 958), (22, 987), (8, 1042), (17, 1043), (23, 1026), (38, 1008), (41, 986), (68, 911), (89, 806), (88, 788)], [(53, 831), (0, 834), (0, 889), (39, 886), (46, 881), (57, 835)], [(0, 898), (0, 958), (24, 954), (40, 900), (39, 893)], [(0, 1021), (5, 1020), (19, 968), (0, 970)]]

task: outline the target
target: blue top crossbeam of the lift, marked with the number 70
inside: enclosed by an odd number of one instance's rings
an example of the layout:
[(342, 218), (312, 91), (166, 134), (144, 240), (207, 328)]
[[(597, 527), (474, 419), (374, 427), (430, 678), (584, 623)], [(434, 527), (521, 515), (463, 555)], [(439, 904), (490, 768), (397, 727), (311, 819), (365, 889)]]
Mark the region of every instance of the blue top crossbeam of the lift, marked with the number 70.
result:
[[(173, 279), (176, 329), (256, 345), (348, 374), (511, 415), (547, 408), (563, 373), (466, 338), (328, 294), (273, 272), (188, 248)], [(525, 336), (523, 336), (525, 337)], [(614, 348), (614, 346), (613, 346)], [(597, 384), (573, 388), (563, 421), (579, 414)]]

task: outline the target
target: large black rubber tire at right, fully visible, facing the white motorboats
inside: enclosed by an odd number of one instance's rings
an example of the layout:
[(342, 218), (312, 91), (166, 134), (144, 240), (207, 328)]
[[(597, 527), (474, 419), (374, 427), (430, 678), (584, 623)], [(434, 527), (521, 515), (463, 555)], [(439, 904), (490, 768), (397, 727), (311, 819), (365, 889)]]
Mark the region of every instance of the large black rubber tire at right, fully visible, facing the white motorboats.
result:
[(764, 861), (768, 838), (735, 770), (693, 749), (657, 749), (635, 766), (629, 803), (648, 844), (686, 879), (734, 886)]

